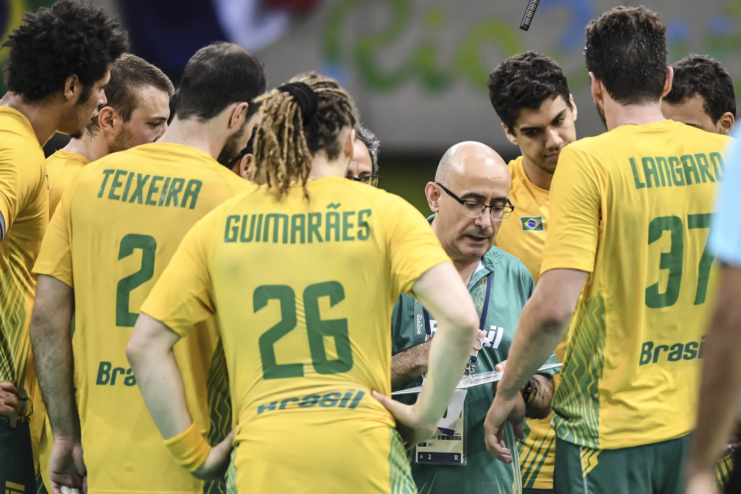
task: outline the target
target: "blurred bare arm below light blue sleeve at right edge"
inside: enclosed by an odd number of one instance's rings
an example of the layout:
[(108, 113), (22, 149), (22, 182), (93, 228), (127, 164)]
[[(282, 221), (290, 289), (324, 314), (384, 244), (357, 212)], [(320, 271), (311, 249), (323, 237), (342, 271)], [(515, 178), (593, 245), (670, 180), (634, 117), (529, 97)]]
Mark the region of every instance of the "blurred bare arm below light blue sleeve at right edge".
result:
[(697, 429), (689, 470), (713, 471), (734, 426), (741, 397), (741, 269), (723, 268), (715, 314), (705, 338)]

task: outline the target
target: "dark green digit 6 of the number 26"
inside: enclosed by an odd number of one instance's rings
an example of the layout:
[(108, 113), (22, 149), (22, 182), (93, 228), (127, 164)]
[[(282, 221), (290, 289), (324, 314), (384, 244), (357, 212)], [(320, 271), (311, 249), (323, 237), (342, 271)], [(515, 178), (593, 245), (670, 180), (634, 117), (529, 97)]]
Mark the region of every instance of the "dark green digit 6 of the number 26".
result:
[[(336, 281), (316, 283), (304, 290), (306, 331), (309, 337), (311, 363), (319, 374), (337, 374), (353, 368), (353, 352), (350, 349), (347, 319), (322, 320), (319, 314), (319, 297), (329, 297), (330, 307), (345, 300), (345, 289)], [(327, 360), (324, 337), (334, 338), (337, 359)]]

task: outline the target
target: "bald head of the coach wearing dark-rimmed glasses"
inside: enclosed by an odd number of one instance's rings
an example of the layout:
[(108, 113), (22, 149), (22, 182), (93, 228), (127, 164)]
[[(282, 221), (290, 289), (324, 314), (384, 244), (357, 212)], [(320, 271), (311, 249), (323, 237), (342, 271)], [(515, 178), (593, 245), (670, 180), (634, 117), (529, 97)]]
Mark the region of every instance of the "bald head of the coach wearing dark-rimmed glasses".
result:
[(511, 186), (507, 165), (494, 149), (461, 142), (448, 149), (435, 181), (425, 187), (435, 213), (432, 228), (466, 282), (514, 209), (507, 197)]

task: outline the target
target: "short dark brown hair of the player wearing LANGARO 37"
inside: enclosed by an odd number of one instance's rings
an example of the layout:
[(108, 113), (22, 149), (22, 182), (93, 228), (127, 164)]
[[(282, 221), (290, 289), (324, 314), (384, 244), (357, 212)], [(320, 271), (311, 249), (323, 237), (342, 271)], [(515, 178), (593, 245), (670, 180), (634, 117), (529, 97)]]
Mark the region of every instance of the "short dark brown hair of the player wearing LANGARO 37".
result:
[(614, 7), (587, 24), (587, 70), (622, 105), (658, 102), (666, 82), (666, 26), (643, 7)]

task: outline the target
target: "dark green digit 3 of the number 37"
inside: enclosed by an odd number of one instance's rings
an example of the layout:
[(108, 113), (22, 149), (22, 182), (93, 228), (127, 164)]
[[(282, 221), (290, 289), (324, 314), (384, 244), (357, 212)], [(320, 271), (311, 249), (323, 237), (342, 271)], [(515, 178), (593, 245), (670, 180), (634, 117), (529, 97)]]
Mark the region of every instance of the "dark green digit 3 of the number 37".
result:
[(666, 291), (659, 293), (659, 282), (646, 289), (646, 305), (652, 309), (674, 305), (679, 297), (679, 284), (682, 281), (682, 258), (684, 256), (684, 238), (682, 235), (682, 218), (662, 216), (654, 218), (648, 224), (648, 244), (661, 238), (664, 231), (671, 232), (671, 251), (662, 252), (659, 269), (669, 270)]

